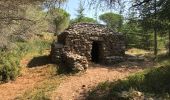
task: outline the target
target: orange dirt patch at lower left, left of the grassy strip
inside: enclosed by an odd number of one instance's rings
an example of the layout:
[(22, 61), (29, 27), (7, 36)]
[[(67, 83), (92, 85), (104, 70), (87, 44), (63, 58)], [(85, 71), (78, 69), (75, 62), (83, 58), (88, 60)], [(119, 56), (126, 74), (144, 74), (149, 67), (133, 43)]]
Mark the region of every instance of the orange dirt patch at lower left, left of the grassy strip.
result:
[(48, 64), (28, 68), (31, 60), (32, 58), (26, 57), (21, 61), (21, 75), (15, 81), (0, 84), (0, 100), (14, 100), (26, 90), (33, 88), (36, 84), (50, 77)]

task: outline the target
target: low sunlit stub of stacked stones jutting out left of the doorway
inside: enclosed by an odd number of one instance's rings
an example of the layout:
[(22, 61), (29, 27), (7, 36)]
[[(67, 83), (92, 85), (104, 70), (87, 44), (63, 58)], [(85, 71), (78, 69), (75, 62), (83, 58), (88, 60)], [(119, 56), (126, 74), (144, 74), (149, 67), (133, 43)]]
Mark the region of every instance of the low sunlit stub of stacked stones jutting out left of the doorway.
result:
[(65, 64), (73, 71), (79, 72), (88, 68), (88, 61), (85, 56), (80, 56), (72, 52), (65, 52), (63, 58)]

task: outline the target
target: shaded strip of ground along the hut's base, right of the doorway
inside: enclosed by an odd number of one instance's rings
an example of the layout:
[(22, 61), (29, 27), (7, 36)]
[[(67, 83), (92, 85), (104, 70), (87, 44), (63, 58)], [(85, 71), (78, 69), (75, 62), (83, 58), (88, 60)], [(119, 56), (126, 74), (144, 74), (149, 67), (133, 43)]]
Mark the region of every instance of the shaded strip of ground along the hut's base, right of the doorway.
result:
[(125, 69), (136, 69), (136, 68), (140, 68), (140, 69), (145, 69), (145, 68), (150, 68), (153, 67), (156, 63), (147, 57), (144, 56), (134, 56), (134, 55), (129, 55), (126, 54), (124, 61), (121, 62), (115, 62), (115, 64), (111, 64), (111, 65), (104, 65), (104, 64), (96, 64), (93, 62), (90, 62), (90, 66), (93, 67), (105, 67), (108, 68), (110, 70), (115, 70), (115, 69), (119, 69), (119, 68), (125, 68)]

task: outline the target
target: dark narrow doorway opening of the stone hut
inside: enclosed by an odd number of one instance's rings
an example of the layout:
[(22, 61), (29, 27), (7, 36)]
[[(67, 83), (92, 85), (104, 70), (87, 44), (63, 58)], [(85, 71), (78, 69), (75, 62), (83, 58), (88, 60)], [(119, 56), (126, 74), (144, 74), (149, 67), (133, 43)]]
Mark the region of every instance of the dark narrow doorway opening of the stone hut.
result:
[(101, 46), (100, 42), (98, 42), (98, 41), (93, 42), (92, 50), (91, 50), (92, 62), (99, 63), (99, 61), (100, 61), (100, 46)]

